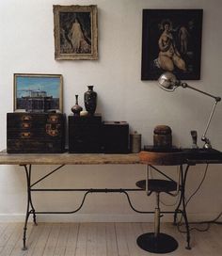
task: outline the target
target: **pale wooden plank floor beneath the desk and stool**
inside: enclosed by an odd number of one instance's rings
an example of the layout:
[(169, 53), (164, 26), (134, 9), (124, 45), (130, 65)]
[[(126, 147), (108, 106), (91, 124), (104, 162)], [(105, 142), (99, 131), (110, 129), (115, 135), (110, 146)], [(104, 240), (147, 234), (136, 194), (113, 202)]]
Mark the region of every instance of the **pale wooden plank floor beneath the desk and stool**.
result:
[[(152, 223), (39, 223), (28, 224), (27, 250), (23, 246), (23, 223), (0, 223), (0, 256), (145, 256), (136, 237), (152, 232)], [(191, 232), (191, 250), (185, 249), (184, 233), (170, 223), (162, 232), (179, 242), (175, 256), (222, 255), (222, 226), (208, 232)], [(163, 255), (163, 254), (152, 254)]]

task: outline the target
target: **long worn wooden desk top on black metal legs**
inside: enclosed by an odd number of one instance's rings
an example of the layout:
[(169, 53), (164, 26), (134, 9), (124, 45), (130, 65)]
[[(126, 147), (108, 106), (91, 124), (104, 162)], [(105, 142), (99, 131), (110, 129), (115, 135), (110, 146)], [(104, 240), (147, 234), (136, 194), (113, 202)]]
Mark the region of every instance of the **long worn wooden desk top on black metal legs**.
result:
[(0, 152), (0, 165), (197, 165), (222, 164), (222, 152), (139, 153), (8, 153)]

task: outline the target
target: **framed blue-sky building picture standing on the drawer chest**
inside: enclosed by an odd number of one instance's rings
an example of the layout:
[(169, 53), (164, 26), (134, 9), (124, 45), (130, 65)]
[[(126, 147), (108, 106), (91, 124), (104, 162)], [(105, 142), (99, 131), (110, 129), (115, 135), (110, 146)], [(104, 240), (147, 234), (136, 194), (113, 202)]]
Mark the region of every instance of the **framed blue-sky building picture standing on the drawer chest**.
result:
[(14, 111), (61, 112), (61, 74), (14, 73)]

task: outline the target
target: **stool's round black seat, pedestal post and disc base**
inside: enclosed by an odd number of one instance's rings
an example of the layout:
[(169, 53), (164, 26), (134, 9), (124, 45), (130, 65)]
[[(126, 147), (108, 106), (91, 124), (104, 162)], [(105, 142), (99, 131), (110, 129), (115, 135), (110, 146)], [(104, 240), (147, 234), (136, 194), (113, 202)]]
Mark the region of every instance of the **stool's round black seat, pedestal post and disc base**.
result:
[[(136, 242), (139, 248), (154, 253), (167, 253), (178, 248), (178, 242), (170, 235), (160, 232), (160, 193), (165, 192), (169, 195), (175, 196), (179, 191), (179, 182), (173, 180), (149, 179), (148, 166), (147, 180), (138, 181), (136, 186), (146, 190), (147, 195), (150, 196), (152, 192), (156, 195), (156, 205), (154, 211), (154, 232), (147, 232), (141, 234)], [(172, 192), (175, 192), (174, 194)]]

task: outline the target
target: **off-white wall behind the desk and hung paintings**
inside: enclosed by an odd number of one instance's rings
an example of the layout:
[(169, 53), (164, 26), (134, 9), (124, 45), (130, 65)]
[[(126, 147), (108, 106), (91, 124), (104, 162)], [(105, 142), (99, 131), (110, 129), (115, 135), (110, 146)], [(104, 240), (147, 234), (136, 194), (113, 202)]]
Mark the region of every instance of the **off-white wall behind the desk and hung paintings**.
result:
[[(54, 58), (53, 5), (89, 5), (99, 8), (99, 60), (56, 61)], [(152, 143), (157, 124), (168, 124), (177, 146), (189, 146), (189, 131), (200, 136), (213, 102), (191, 90), (166, 93), (154, 81), (140, 80), (143, 8), (203, 8), (201, 80), (191, 86), (222, 95), (222, 34), (220, 0), (1, 0), (0, 1), (0, 149), (6, 149), (6, 115), (13, 107), (13, 73), (61, 73), (64, 76), (64, 112), (69, 115), (74, 95), (94, 85), (99, 95), (97, 112), (103, 120), (127, 120), (131, 130), (142, 134), (143, 144)], [(222, 150), (222, 105), (218, 104), (208, 136), (215, 149)], [(199, 142), (201, 144), (201, 142)], [(35, 167), (34, 179), (50, 167)], [(204, 166), (193, 167), (188, 175), (187, 197), (197, 188)], [(50, 187), (134, 187), (144, 177), (140, 166), (66, 167)], [(222, 210), (221, 166), (211, 166), (197, 196), (188, 205), (191, 219), (214, 218)], [(62, 182), (61, 182), (62, 181)], [(42, 200), (44, 199), (44, 201)], [(75, 208), (81, 197), (70, 194), (34, 197), (38, 210)], [(214, 200), (213, 200), (214, 199)], [(22, 220), (25, 212), (25, 177), (21, 167), (0, 166), (0, 221)], [(153, 208), (153, 199), (133, 195), (139, 209)], [(173, 200), (165, 198), (167, 203)], [(84, 208), (74, 216), (52, 216), (53, 220), (142, 221), (151, 216), (136, 215), (123, 195), (89, 195)], [(40, 216), (39, 220), (49, 220)]]

